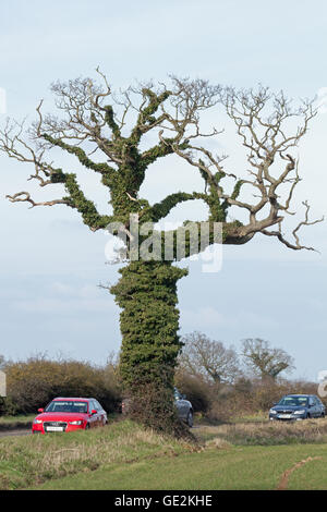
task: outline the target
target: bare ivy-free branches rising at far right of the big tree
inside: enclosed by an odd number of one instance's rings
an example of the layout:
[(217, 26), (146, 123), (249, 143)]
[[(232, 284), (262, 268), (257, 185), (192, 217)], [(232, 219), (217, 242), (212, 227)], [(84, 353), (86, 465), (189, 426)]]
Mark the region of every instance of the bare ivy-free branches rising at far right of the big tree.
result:
[[(310, 121), (316, 115), (313, 101), (303, 100), (299, 108), (292, 108), (291, 101), (281, 92), (270, 94), (267, 87), (259, 86), (257, 90), (235, 92), (227, 88), (221, 101), (228, 115), (237, 125), (238, 134), (242, 138), (243, 146), (249, 150), (250, 180), (243, 180), (242, 184), (249, 184), (258, 191), (258, 202), (255, 205), (238, 204), (249, 210), (249, 233), (262, 232), (269, 236), (277, 236), (280, 242), (293, 249), (307, 248), (301, 245), (298, 232), (303, 225), (312, 225), (316, 221), (308, 220), (310, 206), (304, 202), (305, 216), (293, 230), (294, 243), (290, 243), (281, 233), (283, 215), (293, 215), (290, 206), (296, 184), (300, 182), (298, 172), (299, 160), (290, 155), (301, 138), (307, 132)], [(268, 113), (266, 113), (268, 110)], [(291, 123), (292, 120), (294, 123)], [(291, 135), (289, 134), (291, 133)], [(274, 167), (274, 163), (276, 166)], [(289, 184), (289, 192), (282, 203), (279, 188)], [(257, 220), (266, 206), (268, 215), (264, 220)], [(268, 231), (266, 228), (279, 224), (278, 231)]]

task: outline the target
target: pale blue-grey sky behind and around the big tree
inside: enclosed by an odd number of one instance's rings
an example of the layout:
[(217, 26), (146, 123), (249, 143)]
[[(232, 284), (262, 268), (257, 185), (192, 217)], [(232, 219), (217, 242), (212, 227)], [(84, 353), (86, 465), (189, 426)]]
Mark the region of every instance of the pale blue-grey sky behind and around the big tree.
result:
[[(0, 27), (1, 125), (7, 117), (33, 120), (40, 99), (51, 108), (52, 82), (96, 77), (98, 65), (116, 90), (175, 74), (237, 88), (263, 84), (294, 100), (320, 94), (323, 107), (299, 147), (296, 205), (307, 199), (313, 217), (326, 215), (325, 1), (15, 0), (1, 7)], [(232, 130), (221, 148), (230, 155), (229, 169), (243, 172)], [(24, 190), (41, 197), (27, 181), (31, 171), (0, 154), (0, 354), (104, 364), (121, 342), (119, 308), (99, 288), (119, 278), (119, 267), (106, 260), (108, 236), (92, 233), (64, 206), (28, 209), (5, 199)], [(94, 176), (81, 180), (105, 208), (107, 191)], [(157, 202), (195, 186), (202, 185), (193, 170), (162, 161), (149, 169), (142, 194)], [(185, 204), (171, 219), (203, 214), (199, 205), (190, 210)], [(223, 247), (219, 272), (183, 263), (190, 275), (179, 282), (180, 333), (197, 330), (238, 351), (242, 339), (268, 340), (294, 357), (293, 378), (316, 380), (327, 369), (326, 225), (303, 230), (303, 243), (317, 253), (257, 235), (244, 246)]]

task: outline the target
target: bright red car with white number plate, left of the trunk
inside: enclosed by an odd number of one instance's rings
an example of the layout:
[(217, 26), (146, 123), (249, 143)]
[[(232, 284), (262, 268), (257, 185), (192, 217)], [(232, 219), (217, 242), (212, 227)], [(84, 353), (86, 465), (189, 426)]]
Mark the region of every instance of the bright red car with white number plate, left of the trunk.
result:
[(33, 422), (33, 434), (70, 432), (104, 426), (107, 413), (95, 399), (57, 398), (39, 409)]

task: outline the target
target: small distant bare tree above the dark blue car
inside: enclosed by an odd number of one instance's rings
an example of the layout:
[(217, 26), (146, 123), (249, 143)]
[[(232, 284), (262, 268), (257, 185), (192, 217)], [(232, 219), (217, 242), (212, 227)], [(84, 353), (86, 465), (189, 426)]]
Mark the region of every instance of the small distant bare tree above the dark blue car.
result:
[(294, 369), (293, 358), (282, 349), (272, 349), (259, 338), (243, 340), (242, 355), (246, 366), (262, 380), (276, 378), (282, 371)]

